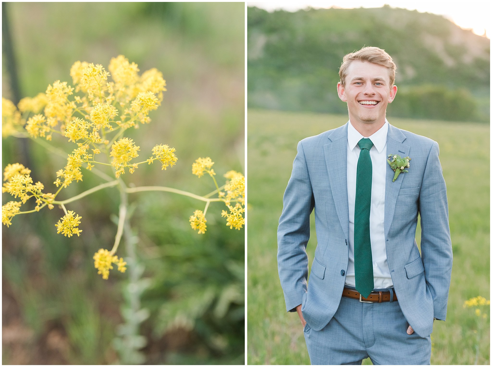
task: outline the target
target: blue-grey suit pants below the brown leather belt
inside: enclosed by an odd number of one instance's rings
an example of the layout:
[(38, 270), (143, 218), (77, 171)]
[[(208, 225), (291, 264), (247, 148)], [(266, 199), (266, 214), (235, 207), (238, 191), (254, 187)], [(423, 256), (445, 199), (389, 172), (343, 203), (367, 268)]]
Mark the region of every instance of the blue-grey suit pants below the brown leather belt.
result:
[(320, 331), (306, 324), (304, 337), (311, 365), (361, 365), (365, 358), (373, 365), (430, 365), (431, 337), (408, 335), (408, 326), (398, 301), (341, 297), (330, 322)]

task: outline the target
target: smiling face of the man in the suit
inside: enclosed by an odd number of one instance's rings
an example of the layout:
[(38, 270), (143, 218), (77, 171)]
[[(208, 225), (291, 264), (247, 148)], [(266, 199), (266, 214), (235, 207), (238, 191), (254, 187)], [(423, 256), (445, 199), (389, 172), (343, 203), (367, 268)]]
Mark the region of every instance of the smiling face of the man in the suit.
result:
[(347, 102), (352, 125), (357, 130), (360, 127), (372, 132), (383, 126), (386, 106), (393, 102), (397, 93), (396, 85), (390, 86), (386, 67), (360, 60), (350, 63), (345, 85), (338, 83), (337, 88), (338, 97)]

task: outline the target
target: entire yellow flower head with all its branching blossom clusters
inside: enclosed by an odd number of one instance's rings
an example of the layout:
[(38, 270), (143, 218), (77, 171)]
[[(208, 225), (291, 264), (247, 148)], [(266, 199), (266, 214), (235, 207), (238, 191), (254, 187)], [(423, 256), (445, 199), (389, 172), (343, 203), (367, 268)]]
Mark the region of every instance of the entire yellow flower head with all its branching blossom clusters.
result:
[[(123, 55), (111, 59), (108, 71), (100, 64), (76, 61), (70, 68), (73, 86), (57, 80), (48, 85), (44, 93), (23, 98), (17, 106), (2, 98), (2, 136), (44, 138), (51, 141), (54, 135), (60, 135), (68, 140), (67, 143), (76, 145), (68, 150), (71, 153), (65, 156), (64, 168), (56, 172), (53, 185), (57, 191), (54, 194), (44, 193), (45, 186), (39, 181), (34, 183), (31, 170), (22, 164), (9, 164), (5, 167), (2, 192), (9, 193), (18, 200), (2, 205), (3, 225), (12, 225), (12, 218), (16, 215), (39, 211), (45, 206), (53, 209), (55, 205), (60, 205), (65, 215), (55, 224), (57, 233), (67, 237), (80, 236), (82, 217), (74, 211), (67, 211), (64, 204), (118, 183), (123, 195), (132, 192), (121, 179), (109, 179), (107, 183), (73, 198), (56, 201), (62, 189), (74, 181), (82, 181), (83, 167), (92, 170), (96, 165), (102, 165), (103, 169), (111, 168), (114, 176), (120, 178), (125, 173), (125, 168), (133, 173), (143, 163), (152, 164), (158, 161), (163, 170), (176, 164), (176, 149), (167, 144), (155, 145), (152, 156), (143, 162), (134, 160), (139, 156), (140, 147), (132, 139), (125, 137), (125, 132), (131, 127), (138, 128), (140, 124), (151, 122), (149, 113), (160, 106), (163, 92), (166, 91), (166, 81), (157, 69), (147, 70), (142, 75), (138, 74), (139, 71), (138, 65), (130, 63)], [(50, 146), (50, 143), (45, 142), (42, 145), (48, 145), (50, 150), (60, 150)], [(193, 174), (201, 177), (207, 173), (216, 187), (214, 193), (201, 198), (207, 201), (204, 211), (195, 210), (189, 218), (191, 228), (198, 230), (199, 234), (204, 234), (207, 230), (205, 215), (211, 201), (222, 201), (227, 206), (228, 211), (222, 211), (227, 226), (240, 229), (245, 224), (244, 176), (239, 172), (229, 171), (224, 175), (225, 184), (219, 188), (213, 165), (210, 157), (198, 158), (192, 165)], [(97, 169), (94, 171), (101, 177), (107, 177), (104, 172)], [(165, 191), (197, 197), (181, 190), (167, 189)], [(215, 193), (218, 197), (210, 198)], [(21, 211), (21, 206), (30, 198), (35, 201), (34, 209)], [(121, 220), (118, 224), (113, 249), (100, 249), (93, 256), (94, 267), (103, 279), (108, 279), (109, 270), (113, 269), (114, 264), (118, 266), (118, 271), (126, 270), (126, 262), (115, 255), (121, 240), (123, 223)]]

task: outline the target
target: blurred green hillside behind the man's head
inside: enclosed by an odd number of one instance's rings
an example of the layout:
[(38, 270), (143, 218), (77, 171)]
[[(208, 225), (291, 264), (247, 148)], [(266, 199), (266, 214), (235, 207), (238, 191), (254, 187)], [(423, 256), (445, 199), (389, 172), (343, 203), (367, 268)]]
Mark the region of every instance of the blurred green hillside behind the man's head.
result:
[(344, 55), (375, 46), (397, 65), (388, 115), (488, 121), (490, 39), (442, 16), (382, 8), (248, 7), (248, 106), (346, 113), (337, 96)]

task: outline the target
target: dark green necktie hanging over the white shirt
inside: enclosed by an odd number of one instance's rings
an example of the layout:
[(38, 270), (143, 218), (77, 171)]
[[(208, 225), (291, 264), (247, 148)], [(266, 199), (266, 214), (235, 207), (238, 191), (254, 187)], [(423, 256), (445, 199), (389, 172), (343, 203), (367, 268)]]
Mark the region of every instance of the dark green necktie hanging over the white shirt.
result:
[(357, 145), (361, 148), (361, 154), (357, 162), (357, 184), (355, 188), (355, 288), (367, 298), (372, 289), (374, 289), (369, 230), (370, 192), (372, 188), (372, 163), (369, 150), (373, 144), (370, 139), (361, 139)]

